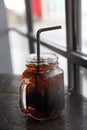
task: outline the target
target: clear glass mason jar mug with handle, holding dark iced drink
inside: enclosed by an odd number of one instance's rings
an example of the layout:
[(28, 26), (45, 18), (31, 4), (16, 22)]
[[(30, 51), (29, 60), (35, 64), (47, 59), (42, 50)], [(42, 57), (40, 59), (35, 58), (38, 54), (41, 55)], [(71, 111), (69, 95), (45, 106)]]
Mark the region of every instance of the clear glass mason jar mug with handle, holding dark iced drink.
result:
[(20, 85), (20, 108), (37, 120), (60, 116), (64, 109), (64, 74), (53, 53), (30, 54)]

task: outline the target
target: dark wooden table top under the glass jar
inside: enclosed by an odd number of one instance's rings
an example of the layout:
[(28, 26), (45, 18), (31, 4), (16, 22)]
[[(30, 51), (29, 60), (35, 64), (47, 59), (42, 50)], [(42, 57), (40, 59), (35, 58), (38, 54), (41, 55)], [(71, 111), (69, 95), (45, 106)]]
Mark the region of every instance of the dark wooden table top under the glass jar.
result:
[(0, 130), (87, 130), (87, 99), (65, 94), (65, 109), (54, 120), (36, 121), (19, 107), (20, 76), (0, 75)]

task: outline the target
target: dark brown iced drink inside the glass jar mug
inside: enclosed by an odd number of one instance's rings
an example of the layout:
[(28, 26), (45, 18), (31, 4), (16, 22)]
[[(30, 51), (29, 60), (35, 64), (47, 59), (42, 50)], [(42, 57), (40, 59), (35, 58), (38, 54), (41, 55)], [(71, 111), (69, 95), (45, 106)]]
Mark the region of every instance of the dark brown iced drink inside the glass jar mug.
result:
[(36, 119), (59, 116), (64, 108), (62, 71), (51, 65), (41, 65), (39, 70), (32, 66), (23, 73), (23, 79), (29, 79), (29, 84), (26, 86), (26, 109), (21, 105), (22, 111)]

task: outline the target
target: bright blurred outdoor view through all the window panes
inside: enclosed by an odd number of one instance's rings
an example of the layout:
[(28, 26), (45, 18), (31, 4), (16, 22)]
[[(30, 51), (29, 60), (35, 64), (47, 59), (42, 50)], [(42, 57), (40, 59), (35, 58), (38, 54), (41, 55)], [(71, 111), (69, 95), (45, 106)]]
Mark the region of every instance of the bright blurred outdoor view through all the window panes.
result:
[[(1, 1), (0, 1), (1, 3)], [(7, 26), (15, 27), (24, 33), (27, 33), (26, 9), (24, 0), (4, 0)], [(53, 41), (54, 44), (60, 44), (66, 47), (66, 17), (65, 17), (65, 0), (31, 0), (33, 31), (39, 28), (61, 25), (61, 30), (50, 31), (41, 34), (44, 40)], [(79, 51), (87, 55), (87, 2), (81, 0), (81, 48)], [(14, 31), (9, 31), (9, 47), (11, 56), (12, 73), (21, 75), (25, 69), (25, 59), (30, 53), (28, 39), (22, 37)], [(36, 52), (36, 44), (35, 52)], [(41, 45), (41, 51), (52, 52), (50, 49)], [(60, 67), (64, 70), (64, 83), (68, 85), (67, 59), (59, 55)], [(5, 73), (5, 72), (4, 72)], [(8, 72), (7, 72), (8, 73)], [(80, 77), (83, 86), (83, 93), (87, 95), (87, 70), (80, 67)]]

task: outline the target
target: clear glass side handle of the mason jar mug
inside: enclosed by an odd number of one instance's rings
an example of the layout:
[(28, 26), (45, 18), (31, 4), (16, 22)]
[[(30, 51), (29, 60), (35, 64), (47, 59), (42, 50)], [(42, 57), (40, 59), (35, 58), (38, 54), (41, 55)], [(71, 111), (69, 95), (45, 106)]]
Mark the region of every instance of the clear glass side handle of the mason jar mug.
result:
[(20, 107), (25, 110), (27, 108), (26, 105), (26, 87), (30, 84), (29, 79), (25, 78), (22, 80), (20, 85)]

